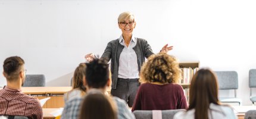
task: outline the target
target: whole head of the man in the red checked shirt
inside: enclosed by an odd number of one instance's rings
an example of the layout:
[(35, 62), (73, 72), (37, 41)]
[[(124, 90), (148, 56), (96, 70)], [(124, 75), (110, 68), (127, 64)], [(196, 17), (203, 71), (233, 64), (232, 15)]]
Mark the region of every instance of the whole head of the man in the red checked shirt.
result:
[(21, 80), (22, 84), (25, 81), (25, 70), (24, 70), (24, 60), (20, 57), (9, 57), (4, 61), (4, 76), (7, 82), (18, 82)]

